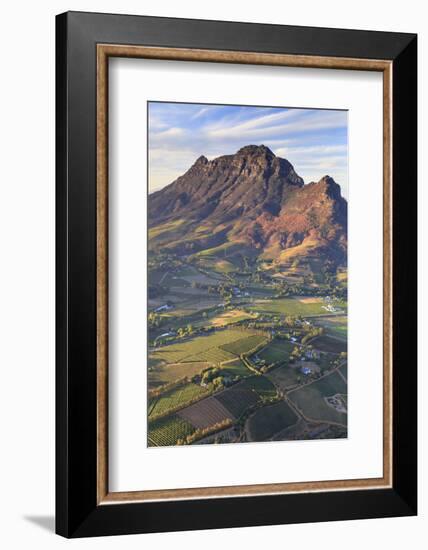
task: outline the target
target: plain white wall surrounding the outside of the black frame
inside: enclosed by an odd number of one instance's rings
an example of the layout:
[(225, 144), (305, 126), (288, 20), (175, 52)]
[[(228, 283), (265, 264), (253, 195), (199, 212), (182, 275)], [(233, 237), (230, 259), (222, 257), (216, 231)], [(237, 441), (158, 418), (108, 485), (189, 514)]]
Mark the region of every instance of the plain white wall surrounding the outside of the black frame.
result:
[[(260, 549), (268, 545), (347, 550), (426, 547), (427, 476), (420, 469), (420, 516), (312, 525), (66, 541), (52, 534), (54, 512), (54, 15), (68, 9), (291, 25), (419, 32), (419, 83), (426, 84), (428, 22), (423, 3), (380, 0), (158, 2), (58, 0), (9, 2), (2, 7), (0, 87), (0, 544), (21, 548)], [(423, 66), (425, 65), (425, 66)], [(425, 89), (425, 88), (424, 88)], [(420, 229), (428, 210), (426, 108), (420, 103)], [(426, 186), (425, 186), (426, 188)], [(427, 246), (422, 235), (419, 248)], [(425, 257), (420, 280), (427, 277)], [(421, 289), (420, 315), (427, 309)], [(420, 364), (426, 359), (420, 324)], [(423, 353), (423, 357), (422, 357)], [(420, 369), (420, 464), (426, 463), (427, 377)]]

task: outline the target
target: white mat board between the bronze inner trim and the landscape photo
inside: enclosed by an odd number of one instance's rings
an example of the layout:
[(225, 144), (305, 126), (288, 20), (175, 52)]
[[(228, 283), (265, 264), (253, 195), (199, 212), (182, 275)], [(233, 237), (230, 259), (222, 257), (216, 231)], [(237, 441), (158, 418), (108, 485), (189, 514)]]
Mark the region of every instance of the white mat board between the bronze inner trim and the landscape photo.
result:
[[(114, 59), (109, 83), (110, 490), (382, 477), (382, 74)], [(147, 448), (148, 99), (348, 110), (347, 439)]]

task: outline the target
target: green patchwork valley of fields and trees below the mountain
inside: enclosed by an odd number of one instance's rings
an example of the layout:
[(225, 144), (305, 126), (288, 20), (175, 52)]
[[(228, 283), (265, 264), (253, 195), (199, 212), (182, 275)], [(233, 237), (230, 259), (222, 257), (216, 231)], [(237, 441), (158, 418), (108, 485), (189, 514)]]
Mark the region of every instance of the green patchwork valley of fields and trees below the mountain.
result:
[(149, 446), (347, 436), (346, 281), (269, 267), (152, 261)]

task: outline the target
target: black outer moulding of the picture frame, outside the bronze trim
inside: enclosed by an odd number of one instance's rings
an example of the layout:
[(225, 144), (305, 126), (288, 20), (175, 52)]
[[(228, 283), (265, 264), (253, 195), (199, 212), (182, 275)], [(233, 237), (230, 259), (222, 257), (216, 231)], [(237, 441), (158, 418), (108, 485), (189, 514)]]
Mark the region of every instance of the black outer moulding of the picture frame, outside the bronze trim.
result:
[[(391, 488), (97, 504), (99, 43), (392, 62)], [(87, 537), (415, 515), (417, 36), (68, 12), (56, 18), (56, 97), (56, 532)]]

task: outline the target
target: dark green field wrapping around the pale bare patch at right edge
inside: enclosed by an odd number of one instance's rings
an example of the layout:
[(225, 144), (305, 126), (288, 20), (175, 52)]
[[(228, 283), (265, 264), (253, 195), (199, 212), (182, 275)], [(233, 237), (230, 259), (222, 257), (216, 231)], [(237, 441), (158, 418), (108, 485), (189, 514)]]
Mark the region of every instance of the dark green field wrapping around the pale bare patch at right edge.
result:
[(324, 397), (337, 393), (347, 393), (346, 383), (339, 374), (333, 372), (316, 382), (291, 391), (288, 397), (308, 419), (346, 425), (347, 415), (337, 412), (324, 400)]

